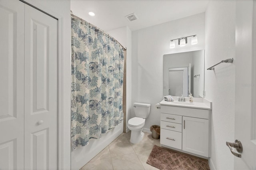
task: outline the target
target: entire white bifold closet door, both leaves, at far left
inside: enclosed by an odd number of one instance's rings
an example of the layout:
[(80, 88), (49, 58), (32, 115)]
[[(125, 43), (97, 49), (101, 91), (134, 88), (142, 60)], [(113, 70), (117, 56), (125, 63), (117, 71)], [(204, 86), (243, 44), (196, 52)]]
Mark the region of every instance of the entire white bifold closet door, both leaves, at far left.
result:
[(0, 0), (0, 22), (0, 169), (58, 169), (58, 21)]

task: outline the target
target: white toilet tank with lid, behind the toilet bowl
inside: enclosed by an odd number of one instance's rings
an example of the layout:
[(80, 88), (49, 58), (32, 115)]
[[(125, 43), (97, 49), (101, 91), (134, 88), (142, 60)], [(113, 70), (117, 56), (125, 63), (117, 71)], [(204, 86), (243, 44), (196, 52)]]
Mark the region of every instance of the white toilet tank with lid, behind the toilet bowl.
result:
[(136, 117), (148, 118), (150, 112), (150, 104), (148, 103), (133, 103)]

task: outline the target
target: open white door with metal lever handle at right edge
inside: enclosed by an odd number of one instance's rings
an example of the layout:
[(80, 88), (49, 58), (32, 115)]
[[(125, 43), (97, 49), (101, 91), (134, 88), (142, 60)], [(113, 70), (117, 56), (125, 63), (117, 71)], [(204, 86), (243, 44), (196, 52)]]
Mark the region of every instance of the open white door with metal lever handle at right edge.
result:
[[(253, 12), (254, 11), (254, 12)], [(255, 0), (236, 1), (236, 100), (235, 140), (242, 143), (241, 158), (234, 156), (234, 169), (256, 169), (255, 113)], [(228, 141), (234, 142), (234, 141)], [(228, 148), (227, 148), (228, 149)], [(230, 156), (233, 156), (230, 152)]]

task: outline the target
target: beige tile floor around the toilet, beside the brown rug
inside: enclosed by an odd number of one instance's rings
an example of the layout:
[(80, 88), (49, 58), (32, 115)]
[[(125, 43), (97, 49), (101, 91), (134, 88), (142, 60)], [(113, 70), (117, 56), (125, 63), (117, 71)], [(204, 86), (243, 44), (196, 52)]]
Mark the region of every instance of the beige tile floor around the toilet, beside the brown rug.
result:
[(158, 170), (146, 162), (154, 144), (160, 146), (160, 139), (152, 138), (151, 133), (144, 134), (140, 143), (132, 144), (131, 131), (122, 133), (81, 170)]

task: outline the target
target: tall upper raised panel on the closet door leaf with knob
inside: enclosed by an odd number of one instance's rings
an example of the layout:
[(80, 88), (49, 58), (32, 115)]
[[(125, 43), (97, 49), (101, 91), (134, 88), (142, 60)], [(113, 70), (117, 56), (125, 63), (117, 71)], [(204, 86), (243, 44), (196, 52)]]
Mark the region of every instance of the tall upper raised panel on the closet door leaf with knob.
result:
[(31, 93), (33, 100), (31, 114), (49, 111), (49, 26), (34, 19), (31, 20), (32, 58)]

